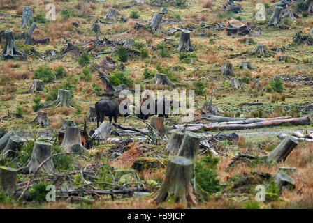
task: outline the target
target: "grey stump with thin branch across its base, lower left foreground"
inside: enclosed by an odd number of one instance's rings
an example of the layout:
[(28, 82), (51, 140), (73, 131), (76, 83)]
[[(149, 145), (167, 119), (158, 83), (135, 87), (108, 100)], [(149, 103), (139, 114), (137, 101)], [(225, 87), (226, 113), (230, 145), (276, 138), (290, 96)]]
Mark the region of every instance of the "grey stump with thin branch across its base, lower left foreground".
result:
[[(29, 160), (26, 167), (21, 169), (21, 172), (24, 174), (33, 174), (39, 165), (52, 155), (52, 147), (52, 144), (48, 144), (43, 141), (36, 141), (33, 152), (31, 153), (31, 160)], [(37, 172), (52, 174), (54, 172), (52, 159), (50, 158), (50, 160), (47, 160)]]

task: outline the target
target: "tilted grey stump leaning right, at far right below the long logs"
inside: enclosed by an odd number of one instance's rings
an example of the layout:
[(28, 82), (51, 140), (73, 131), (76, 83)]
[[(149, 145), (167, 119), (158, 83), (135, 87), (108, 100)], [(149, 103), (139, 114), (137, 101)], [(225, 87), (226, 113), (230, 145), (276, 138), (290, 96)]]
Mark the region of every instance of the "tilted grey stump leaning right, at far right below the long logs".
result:
[(268, 154), (266, 162), (270, 164), (272, 162), (278, 163), (280, 161), (285, 161), (286, 157), (297, 145), (298, 141), (295, 139), (291, 137), (285, 138), (272, 152), (270, 152), (270, 154)]

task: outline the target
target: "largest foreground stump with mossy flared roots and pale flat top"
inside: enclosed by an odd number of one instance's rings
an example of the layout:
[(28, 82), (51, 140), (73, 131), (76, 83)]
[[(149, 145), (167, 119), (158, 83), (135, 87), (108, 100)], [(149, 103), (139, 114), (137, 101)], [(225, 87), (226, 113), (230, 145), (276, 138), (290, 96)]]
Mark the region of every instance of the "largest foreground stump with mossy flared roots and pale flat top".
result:
[(194, 187), (191, 184), (194, 163), (186, 157), (170, 156), (166, 174), (160, 189), (154, 194), (157, 203), (166, 200), (175, 203), (196, 204)]

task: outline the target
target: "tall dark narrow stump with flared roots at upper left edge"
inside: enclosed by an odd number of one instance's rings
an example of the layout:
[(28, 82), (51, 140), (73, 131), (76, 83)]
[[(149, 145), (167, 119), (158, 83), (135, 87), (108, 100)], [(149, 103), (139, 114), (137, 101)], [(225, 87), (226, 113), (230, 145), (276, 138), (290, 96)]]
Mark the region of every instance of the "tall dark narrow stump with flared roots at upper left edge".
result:
[(26, 59), (26, 56), (17, 49), (13, 31), (10, 29), (6, 30), (4, 36), (6, 37), (6, 46), (1, 55), (2, 59), (12, 59), (15, 56), (19, 56), (20, 59)]

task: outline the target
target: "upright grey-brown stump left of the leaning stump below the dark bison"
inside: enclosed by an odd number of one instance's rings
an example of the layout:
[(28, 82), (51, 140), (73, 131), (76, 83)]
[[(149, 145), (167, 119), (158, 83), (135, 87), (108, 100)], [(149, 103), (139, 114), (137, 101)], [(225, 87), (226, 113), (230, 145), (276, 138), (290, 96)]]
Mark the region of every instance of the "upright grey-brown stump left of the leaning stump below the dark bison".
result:
[(80, 128), (66, 127), (61, 146), (64, 147), (68, 152), (81, 153), (82, 139), (80, 136)]

